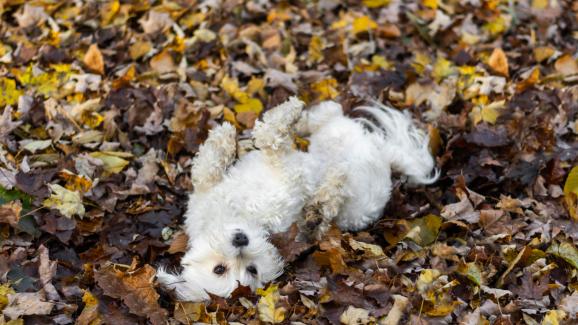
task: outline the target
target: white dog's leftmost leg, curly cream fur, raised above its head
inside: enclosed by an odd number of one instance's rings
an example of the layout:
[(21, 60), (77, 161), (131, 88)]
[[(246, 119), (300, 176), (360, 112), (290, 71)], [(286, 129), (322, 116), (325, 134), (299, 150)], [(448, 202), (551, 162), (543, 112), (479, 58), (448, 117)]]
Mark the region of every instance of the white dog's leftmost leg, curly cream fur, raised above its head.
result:
[(237, 152), (237, 131), (227, 122), (212, 129), (193, 160), (191, 177), (196, 192), (218, 184)]

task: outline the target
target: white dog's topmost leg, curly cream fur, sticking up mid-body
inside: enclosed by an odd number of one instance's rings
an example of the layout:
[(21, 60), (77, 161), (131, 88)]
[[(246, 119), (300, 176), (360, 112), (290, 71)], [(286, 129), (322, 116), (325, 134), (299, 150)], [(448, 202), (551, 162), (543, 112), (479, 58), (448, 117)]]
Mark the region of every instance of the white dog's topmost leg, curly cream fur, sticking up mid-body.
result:
[(276, 106), (263, 114), (253, 128), (255, 146), (269, 156), (277, 156), (291, 150), (293, 126), (299, 119), (304, 103), (297, 97)]

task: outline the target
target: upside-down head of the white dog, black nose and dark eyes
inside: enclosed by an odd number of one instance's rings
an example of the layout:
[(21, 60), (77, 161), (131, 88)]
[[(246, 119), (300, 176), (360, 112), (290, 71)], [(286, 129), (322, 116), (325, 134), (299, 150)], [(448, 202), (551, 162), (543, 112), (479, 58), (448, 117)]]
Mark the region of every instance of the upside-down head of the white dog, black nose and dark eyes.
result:
[[(239, 284), (252, 290), (277, 278), (283, 261), (268, 234), (258, 226), (229, 224), (190, 238), (183, 271), (158, 278), (182, 300), (207, 300), (208, 293), (228, 297)], [(168, 275), (168, 276), (167, 276)]]

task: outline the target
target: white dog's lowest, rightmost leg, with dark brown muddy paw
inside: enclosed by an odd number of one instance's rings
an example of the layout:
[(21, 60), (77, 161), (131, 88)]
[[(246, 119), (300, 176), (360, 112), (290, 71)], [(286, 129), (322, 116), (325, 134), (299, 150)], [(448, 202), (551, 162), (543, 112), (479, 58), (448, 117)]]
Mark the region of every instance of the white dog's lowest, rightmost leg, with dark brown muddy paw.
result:
[(306, 239), (320, 239), (339, 215), (345, 202), (346, 174), (339, 167), (330, 168), (321, 184), (305, 206), (303, 219), (299, 222)]

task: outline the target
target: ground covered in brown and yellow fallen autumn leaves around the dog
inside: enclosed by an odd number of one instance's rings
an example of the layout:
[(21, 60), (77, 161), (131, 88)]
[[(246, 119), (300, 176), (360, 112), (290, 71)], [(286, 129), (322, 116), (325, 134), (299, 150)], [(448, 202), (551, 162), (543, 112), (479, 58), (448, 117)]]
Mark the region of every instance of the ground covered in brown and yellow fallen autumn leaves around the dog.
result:
[[(577, 52), (577, 1), (2, 1), (0, 324), (576, 324)], [(409, 110), (441, 178), (177, 302), (192, 157), (293, 94)]]

